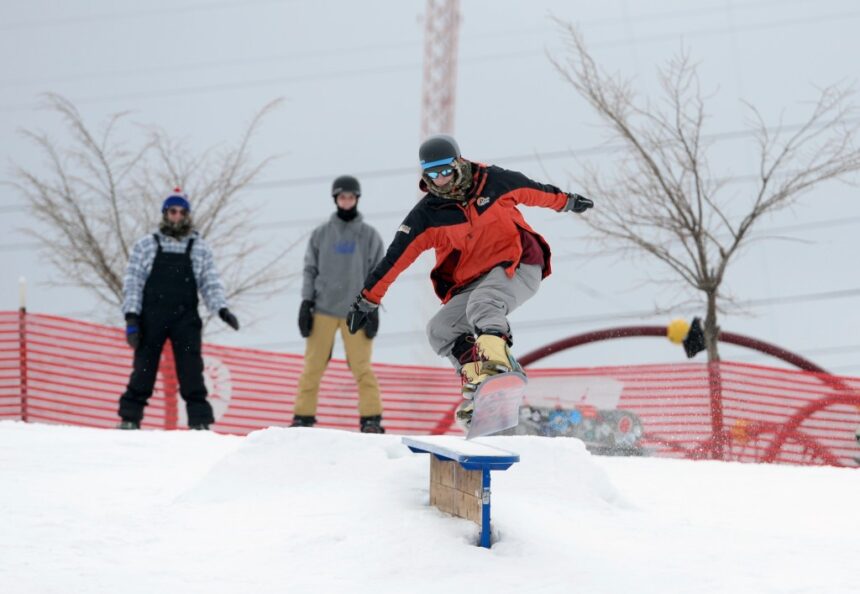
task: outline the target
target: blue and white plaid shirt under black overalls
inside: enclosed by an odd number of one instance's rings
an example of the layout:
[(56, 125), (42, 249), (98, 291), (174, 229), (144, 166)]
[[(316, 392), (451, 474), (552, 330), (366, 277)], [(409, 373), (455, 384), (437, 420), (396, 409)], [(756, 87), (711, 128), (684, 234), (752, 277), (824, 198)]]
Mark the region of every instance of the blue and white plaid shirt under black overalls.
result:
[[(185, 252), (188, 240), (192, 237), (194, 245), (191, 248), (191, 266), (194, 269), (194, 280), (197, 281), (197, 290), (206, 302), (206, 307), (215, 314), (222, 307), (227, 307), (227, 297), (224, 293), (224, 285), (221, 284), (221, 278), (218, 276), (218, 270), (215, 268), (209, 244), (196, 231), (182, 239), (174, 239), (161, 232), (158, 233), (161, 249), (172, 254)], [(143, 286), (152, 271), (152, 263), (155, 262), (157, 252), (158, 244), (151, 234), (142, 237), (134, 244), (123, 278), (123, 314), (140, 314), (143, 304)]]

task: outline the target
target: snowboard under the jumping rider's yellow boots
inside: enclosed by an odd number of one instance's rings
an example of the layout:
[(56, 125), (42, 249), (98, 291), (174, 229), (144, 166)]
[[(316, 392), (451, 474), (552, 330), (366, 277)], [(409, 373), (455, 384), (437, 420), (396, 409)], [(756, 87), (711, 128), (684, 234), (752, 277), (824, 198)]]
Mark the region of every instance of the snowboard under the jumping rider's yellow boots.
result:
[(516, 427), (527, 384), (525, 374), (519, 371), (500, 373), (484, 380), (472, 399), (475, 408), (466, 427), (466, 439)]

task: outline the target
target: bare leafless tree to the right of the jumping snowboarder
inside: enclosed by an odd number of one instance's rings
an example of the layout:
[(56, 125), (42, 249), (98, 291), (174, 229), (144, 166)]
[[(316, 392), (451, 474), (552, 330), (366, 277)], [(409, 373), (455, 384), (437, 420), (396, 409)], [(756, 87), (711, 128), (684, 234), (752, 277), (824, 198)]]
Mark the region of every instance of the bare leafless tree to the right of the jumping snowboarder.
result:
[(726, 180), (711, 172), (705, 99), (689, 55), (682, 51), (658, 70), (659, 101), (640, 99), (630, 80), (597, 64), (574, 26), (558, 22), (567, 52), (550, 59), (623, 148), (611, 172), (586, 167), (578, 180), (600, 199), (587, 222), (601, 239), (656, 258), (676, 282), (702, 295), (708, 360), (719, 361), (717, 315), (730, 305), (723, 281), (762, 217), (860, 169), (852, 91), (821, 90), (806, 120), (793, 126), (769, 128), (748, 106), (758, 172), (749, 193), (730, 195)]

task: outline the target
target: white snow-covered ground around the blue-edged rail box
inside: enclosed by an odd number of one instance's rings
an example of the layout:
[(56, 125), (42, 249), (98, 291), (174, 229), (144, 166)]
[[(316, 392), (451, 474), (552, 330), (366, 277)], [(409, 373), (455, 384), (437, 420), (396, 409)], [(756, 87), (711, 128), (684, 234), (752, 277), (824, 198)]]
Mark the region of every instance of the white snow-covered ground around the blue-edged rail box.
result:
[(484, 438), (499, 540), (428, 506), (395, 435), (0, 423), (0, 592), (860, 592), (852, 469)]

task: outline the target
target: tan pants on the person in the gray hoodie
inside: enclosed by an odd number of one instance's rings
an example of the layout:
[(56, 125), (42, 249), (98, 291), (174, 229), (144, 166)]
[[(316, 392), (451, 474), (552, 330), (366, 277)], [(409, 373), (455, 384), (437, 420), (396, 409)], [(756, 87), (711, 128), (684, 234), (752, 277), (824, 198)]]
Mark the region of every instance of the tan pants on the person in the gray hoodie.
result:
[(316, 414), (320, 380), (331, 359), (334, 336), (338, 330), (343, 339), (346, 362), (358, 383), (358, 414), (362, 417), (382, 414), (379, 384), (370, 367), (373, 341), (363, 330), (350, 334), (344, 318), (320, 313), (314, 314), (313, 330), (305, 346), (305, 368), (299, 378), (299, 393), (296, 396), (293, 414), (297, 416)]

